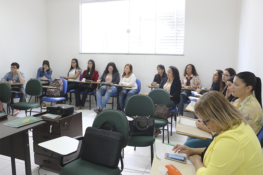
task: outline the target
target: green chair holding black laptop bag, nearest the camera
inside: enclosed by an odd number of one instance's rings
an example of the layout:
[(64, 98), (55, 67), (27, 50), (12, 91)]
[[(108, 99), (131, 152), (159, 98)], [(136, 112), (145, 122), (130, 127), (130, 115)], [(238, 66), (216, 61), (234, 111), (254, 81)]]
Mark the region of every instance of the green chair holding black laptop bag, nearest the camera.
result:
[[(93, 127), (100, 127), (105, 121), (112, 121), (115, 125), (115, 131), (121, 132), (124, 134), (124, 144), (122, 148), (127, 146), (129, 139), (129, 124), (126, 116), (121, 111), (116, 109), (107, 109), (99, 113), (92, 124)], [(75, 139), (82, 140), (84, 136), (75, 137)], [(82, 145), (81, 149), (85, 149)], [(107, 145), (105, 145), (107, 149)], [(93, 150), (90, 150), (93, 151)], [(83, 160), (80, 158), (80, 154), (73, 160), (70, 160), (66, 163), (63, 163), (63, 157), (58, 157), (58, 165), (63, 167), (60, 171), (60, 175), (71, 175), (71, 174), (121, 174), (123, 170), (123, 160), (120, 156), (121, 169), (117, 168), (108, 168), (92, 162)], [(107, 156), (107, 155), (105, 155)]]

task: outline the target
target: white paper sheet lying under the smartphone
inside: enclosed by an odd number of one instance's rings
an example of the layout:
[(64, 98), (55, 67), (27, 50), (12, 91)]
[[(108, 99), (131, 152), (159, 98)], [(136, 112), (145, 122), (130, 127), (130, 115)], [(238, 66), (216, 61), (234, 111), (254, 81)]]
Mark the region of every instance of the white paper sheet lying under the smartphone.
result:
[[(178, 155), (181, 157), (186, 157), (186, 163), (187, 164), (192, 164), (193, 163), (190, 161), (190, 159), (187, 157), (186, 154), (178, 154), (178, 153), (174, 153), (174, 151), (172, 151), (173, 146), (170, 145), (166, 145), (164, 143), (160, 143), (155, 141), (155, 153), (156, 156), (161, 160), (161, 161), (165, 161), (165, 162), (176, 162), (176, 161), (172, 161), (169, 159), (165, 159), (165, 153), (169, 153), (169, 154), (174, 154), (174, 155)], [(181, 163), (181, 162), (177, 162), (177, 163)]]

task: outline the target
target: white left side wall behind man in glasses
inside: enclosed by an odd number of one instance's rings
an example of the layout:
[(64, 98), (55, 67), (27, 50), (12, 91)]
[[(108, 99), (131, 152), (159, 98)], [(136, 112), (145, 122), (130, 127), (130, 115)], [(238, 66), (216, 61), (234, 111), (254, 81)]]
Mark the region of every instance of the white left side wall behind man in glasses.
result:
[(0, 77), (17, 62), (26, 81), (47, 59), (46, 1), (0, 1)]

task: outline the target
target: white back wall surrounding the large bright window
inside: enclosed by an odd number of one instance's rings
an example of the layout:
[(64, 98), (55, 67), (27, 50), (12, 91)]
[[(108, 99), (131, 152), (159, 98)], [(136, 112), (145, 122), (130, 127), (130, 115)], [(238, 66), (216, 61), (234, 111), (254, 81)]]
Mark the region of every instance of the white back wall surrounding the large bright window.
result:
[(166, 69), (174, 65), (182, 75), (184, 67), (191, 63), (202, 85), (209, 87), (214, 70), (234, 68), (239, 3), (186, 0), (184, 56), (169, 56), (79, 54), (79, 0), (47, 1), (48, 59), (53, 77), (66, 75), (74, 57), (83, 70), (87, 61), (93, 59), (100, 76), (108, 62), (115, 62), (120, 72), (130, 63), (136, 78), (141, 80), (141, 92), (149, 92), (146, 85), (153, 81), (158, 64), (164, 64)]

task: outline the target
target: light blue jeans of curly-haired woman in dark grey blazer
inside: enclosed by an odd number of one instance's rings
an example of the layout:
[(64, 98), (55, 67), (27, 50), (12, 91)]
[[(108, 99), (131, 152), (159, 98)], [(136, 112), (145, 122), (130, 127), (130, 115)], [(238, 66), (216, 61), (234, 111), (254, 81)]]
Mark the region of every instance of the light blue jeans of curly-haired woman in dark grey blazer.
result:
[[(107, 87), (108, 85), (103, 85), (97, 92), (97, 107), (102, 109), (105, 107), (106, 103), (110, 99), (110, 96), (117, 93), (117, 88), (115, 86), (110, 86), (108, 89)], [(103, 98), (103, 101), (101, 102), (103, 94), (105, 94), (105, 96)]]

